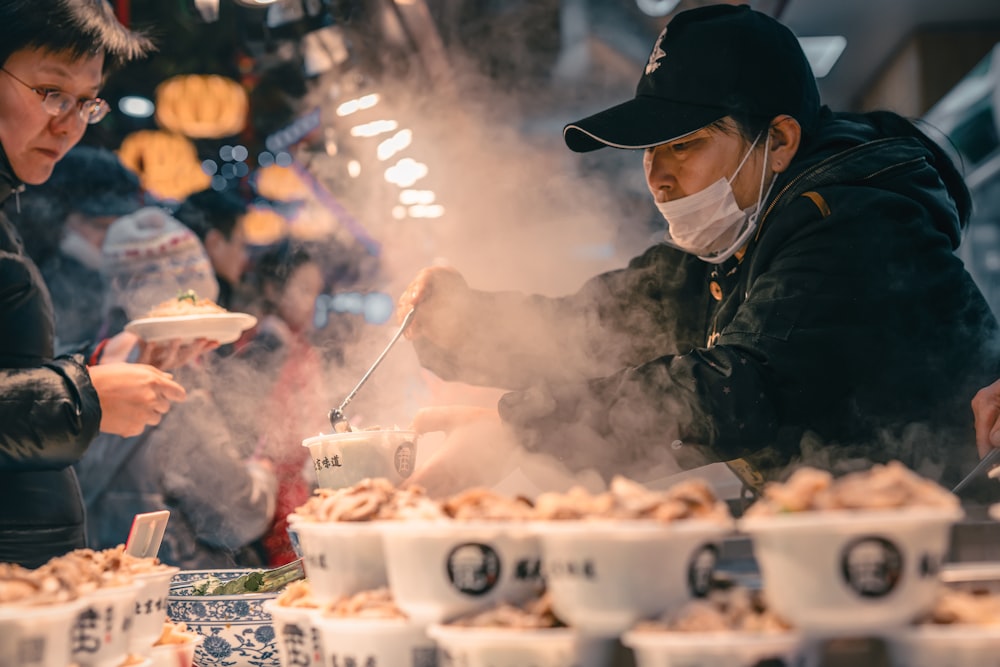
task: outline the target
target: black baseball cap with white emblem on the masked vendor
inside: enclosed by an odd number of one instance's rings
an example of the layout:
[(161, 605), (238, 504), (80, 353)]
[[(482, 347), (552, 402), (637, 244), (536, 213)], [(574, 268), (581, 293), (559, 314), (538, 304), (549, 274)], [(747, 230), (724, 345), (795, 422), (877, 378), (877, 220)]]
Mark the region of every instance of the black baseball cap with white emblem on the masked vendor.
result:
[(677, 14), (656, 38), (635, 98), (563, 128), (578, 153), (649, 148), (738, 113), (788, 114), (808, 132), (819, 90), (798, 39), (747, 5)]

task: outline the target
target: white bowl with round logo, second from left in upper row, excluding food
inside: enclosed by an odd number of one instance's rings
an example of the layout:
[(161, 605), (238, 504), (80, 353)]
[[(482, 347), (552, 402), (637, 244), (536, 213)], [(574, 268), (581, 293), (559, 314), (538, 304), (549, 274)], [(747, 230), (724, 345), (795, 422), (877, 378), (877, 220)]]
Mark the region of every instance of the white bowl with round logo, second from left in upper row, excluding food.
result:
[(524, 521), (385, 521), (382, 537), (393, 599), (417, 623), (523, 602), (542, 588), (538, 538)]

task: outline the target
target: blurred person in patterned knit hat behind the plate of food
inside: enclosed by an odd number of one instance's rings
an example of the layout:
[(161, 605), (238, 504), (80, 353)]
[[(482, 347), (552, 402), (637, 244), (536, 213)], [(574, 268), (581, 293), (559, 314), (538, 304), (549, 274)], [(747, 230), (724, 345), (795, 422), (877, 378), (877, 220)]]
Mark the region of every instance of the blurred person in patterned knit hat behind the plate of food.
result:
[[(110, 334), (187, 290), (217, 297), (205, 249), (163, 209), (142, 208), (115, 221), (103, 255)], [(167, 509), (163, 562), (185, 569), (257, 564), (243, 550), (270, 525), (277, 485), (267, 464), (249, 460), (233, 441), (202, 363), (210, 348), (199, 349), (174, 372), (188, 392), (183, 404), (138, 436), (101, 434), (76, 464), (91, 548), (124, 542), (133, 515)], [(138, 341), (127, 354), (130, 360), (142, 354)]]

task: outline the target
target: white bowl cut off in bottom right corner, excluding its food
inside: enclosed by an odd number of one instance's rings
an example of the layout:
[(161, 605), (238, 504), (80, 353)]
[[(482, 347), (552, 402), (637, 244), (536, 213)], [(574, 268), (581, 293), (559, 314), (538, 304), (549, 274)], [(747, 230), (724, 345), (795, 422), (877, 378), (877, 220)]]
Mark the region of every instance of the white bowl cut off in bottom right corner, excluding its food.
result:
[(919, 625), (886, 641), (894, 667), (980, 667), (997, 664), (1000, 626)]

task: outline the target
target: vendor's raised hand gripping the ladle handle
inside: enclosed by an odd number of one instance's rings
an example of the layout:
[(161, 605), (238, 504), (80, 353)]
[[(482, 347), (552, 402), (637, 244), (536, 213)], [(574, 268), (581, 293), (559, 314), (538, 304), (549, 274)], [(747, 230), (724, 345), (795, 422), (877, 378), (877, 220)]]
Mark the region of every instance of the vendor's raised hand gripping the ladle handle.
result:
[[(416, 308), (413, 320), (406, 329), (406, 337), (424, 337), (438, 345), (448, 345), (461, 318), (456, 312), (469, 290), (468, 283), (458, 271), (447, 266), (422, 269), (410, 282), (396, 303), (396, 318), (402, 322), (407, 313)], [(419, 307), (418, 307), (419, 306)]]

